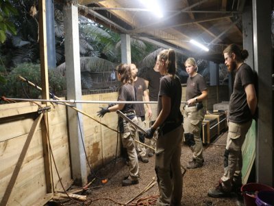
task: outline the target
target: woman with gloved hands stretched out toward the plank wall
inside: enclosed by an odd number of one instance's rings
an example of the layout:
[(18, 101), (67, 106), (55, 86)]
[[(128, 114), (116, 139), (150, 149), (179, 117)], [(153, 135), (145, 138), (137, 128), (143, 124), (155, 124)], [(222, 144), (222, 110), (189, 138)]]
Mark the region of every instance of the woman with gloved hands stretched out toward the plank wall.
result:
[[(121, 82), (119, 88), (118, 101), (124, 102), (136, 101), (135, 90), (132, 78), (132, 71), (127, 64), (121, 64), (116, 67), (117, 78)], [(99, 117), (103, 117), (106, 113), (120, 110), (132, 122), (138, 124), (137, 117), (134, 111), (134, 104), (119, 103), (116, 105), (110, 104), (107, 107), (100, 107), (101, 110), (97, 112)], [(127, 155), (129, 157), (129, 175), (125, 176), (122, 181), (123, 186), (135, 185), (139, 183), (139, 163), (136, 148), (134, 145), (134, 139), (136, 135), (136, 128), (125, 121), (122, 117), (119, 117), (119, 131), (121, 132), (123, 147), (127, 149)]]

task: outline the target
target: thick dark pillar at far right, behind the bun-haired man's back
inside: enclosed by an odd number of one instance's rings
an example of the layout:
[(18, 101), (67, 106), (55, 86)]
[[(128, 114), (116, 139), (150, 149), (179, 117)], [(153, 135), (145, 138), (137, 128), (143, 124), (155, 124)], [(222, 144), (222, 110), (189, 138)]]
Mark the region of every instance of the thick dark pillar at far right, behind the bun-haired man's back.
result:
[(258, 73), (256, 181), (273, 185), (273, 56), (271, 0), (252, 0), (254, 69)]

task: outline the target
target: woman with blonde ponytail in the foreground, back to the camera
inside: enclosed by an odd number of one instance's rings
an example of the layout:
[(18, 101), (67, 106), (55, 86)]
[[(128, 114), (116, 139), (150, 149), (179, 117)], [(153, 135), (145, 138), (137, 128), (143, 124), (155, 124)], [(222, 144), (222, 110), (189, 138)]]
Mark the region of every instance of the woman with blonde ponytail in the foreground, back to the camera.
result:
[(158, 55), (162, 75), (158, 95), (158, 117), (147, 130), (152, 138), (158, 128), (155, 148), (155, 172), (160, 197), (156, 205), (181, 205), (182, 171), (181, 143), (183, 116), (180, 111), (182, 86), (176, 73), (176, 56), (173, 49), (165, 49)]

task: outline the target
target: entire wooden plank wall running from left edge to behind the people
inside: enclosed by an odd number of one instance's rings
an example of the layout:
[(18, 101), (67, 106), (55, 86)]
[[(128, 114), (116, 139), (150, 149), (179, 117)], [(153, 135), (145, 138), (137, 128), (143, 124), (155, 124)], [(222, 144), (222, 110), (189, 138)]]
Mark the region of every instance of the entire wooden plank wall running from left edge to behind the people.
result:
[[(213, 109), (213, 104), (228, 100), (228, 88), (224, 86), (210, 87), (209, 98), (206, 101), (208, 110)], [(183, 87), (182, 101), (185, 100), (186, 87)], [(116, 101), (117, 93), (102, 93), (84, 95), (82, 100)], [(103, 118), (97, 116), (99, 106), (107, 104), (83, 104), (83, 111), (95, 119), (117, 129), (118, 115), (107, 113)], [(183, 111), (182, 104), (181, 110)], [(0, 201), (8, 186), (18, 157), (25, 144), (29, 130), (37, 117), (38, 107), (29, 102), (0, 105)], [(62, 178), (62, 183), (67, 189), (71, 183), (71, 165), (69, 157), (69, 138), (67, 130), (66, 110), (71, 109), (61, 104), (52, 104), (49, 112), (49, 134), (53, 156)], [(88, 161), (92, 170), (97, 170), (112, 161), (117, 151), (120, 155), (121, 142), (117, 133), (84, 116), (84, 142)], [(147, 119), (148, 120), (148, 119)], [(148, 123), (149, 121), (147, 121)], [(147, 124), (148, 127), (148, 124)], [(117, 142), (118, 141), (118, 142)], [(42, 152), (42, 131), (39, 127), (34, 135), (21, 171), (10, 195), (8, 205), (34, 205), (47, 195), (45, 183), (45, 168)], [(88, 168), (88, 174), (90, 169)], [(62, 191), (58, 175), (52, 162), (53, 189)]]

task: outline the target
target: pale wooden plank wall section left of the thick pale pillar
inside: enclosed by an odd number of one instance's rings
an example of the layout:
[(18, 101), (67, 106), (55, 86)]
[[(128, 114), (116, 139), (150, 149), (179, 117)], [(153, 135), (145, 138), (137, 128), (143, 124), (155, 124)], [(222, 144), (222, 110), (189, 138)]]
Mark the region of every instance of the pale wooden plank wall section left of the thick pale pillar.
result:
[[(29, 102), (0, 105), (0, 201), (8, 187), (12, 172), (21, 154), (23, 145), (37, 117), (38, 106)], [(64, 187), (71, 185), (71, 168), (69, 163), (69, 141), (66, 129), (66, 107), (51, 106), (49, 112), (51, 130), (50, 141), (55, 162), (62, 177)], [(54, 165), (53, 187), (62, 190)], [(45, 182), (45, 166), (42, 148), (42, 131), (40, 126), (32, 141), (18, 173), (16, 183), (7, 205), (39, 205), (49, 199)]]

